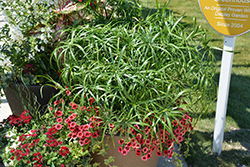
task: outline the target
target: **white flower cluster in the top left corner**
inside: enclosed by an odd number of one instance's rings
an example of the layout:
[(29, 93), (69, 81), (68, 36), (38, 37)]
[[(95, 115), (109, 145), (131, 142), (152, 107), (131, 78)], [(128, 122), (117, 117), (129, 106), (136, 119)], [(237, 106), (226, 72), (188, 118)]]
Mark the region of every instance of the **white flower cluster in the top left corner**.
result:
[[(6, 22), (9, 22), (8, 27), (10, 29), (10, 40), (5, 42), (10, 46), (12, 46), (14, 42), (21, 44), (22, 41), (28, 39), (24, 35), (28, 32), (40, 41), (36, 46), (33, 45), (34, 48), (31, 49), (32, 52), (44, 51), (45, 48), (42, 44), (48, 44), (49, 40), (53, 38), (51, 25), (48, 25), (47, 21), (51, 12), (55, 10), (56, 5), (60, 3), (59, 1), (60, 0), (0, 0), (0, 8), (2, 9)], [(41, 28), (40, 33), (39, 24), (46, 25), (46, 27)]]

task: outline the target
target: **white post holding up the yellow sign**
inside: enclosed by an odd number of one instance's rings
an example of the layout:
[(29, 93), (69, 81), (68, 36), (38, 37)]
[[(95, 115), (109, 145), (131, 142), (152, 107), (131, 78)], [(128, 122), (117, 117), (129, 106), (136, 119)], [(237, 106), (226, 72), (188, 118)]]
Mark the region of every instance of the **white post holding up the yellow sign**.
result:
[(222, 150), (222, 143), (224, 138), (224, 126), (226, 121), (231, 69), (234, 56), (234, 53), (230, 51), (234, 51), (235, 38), (236, 37), (225, 37), (222, 54), (213, 141), (213, 152), (217, 152), (219, 155)]

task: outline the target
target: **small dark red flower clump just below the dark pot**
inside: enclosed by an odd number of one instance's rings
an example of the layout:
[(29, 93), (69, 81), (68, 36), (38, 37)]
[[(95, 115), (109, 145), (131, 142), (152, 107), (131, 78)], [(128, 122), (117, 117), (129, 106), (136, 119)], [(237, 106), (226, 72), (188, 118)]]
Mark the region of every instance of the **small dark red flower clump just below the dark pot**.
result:
[(7, 118), (7, 121), (12, 126), (14, 126), (14, 125), (22, 126), (24, 124), (29, 124), (31, 119), (32, 119), (32, 117), (29, 115), (29, 111), (24, 110), (24, 112), (20, 116), (17, 116), (15, 114), (10, 115)]

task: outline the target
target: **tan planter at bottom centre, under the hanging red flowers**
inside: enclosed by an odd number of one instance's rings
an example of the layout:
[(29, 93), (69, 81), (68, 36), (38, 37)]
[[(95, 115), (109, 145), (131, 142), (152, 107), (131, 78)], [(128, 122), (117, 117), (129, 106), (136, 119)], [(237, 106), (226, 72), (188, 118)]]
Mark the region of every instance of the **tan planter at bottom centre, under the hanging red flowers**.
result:
[[(135, 151), (131, 149), (127, 155), (122, 155), (118, 152), (118, 147), (120, 146), (118, 144), (119, 137), (114, 136), (114, 142), (115, 142), (115, 148), (113, 146), (113, 142), (111, 138), (108, 140), (109, 149), (107, 150), (107, 155), (101, 156), (101, 155), (93, 155), (92, 162), (98, 162), (100, 163), (100, 167), (107, 167), (107, 165), (104, 164), (104, 159), (108, 159), (110, 156), (115, 157), (115, 162), (111, 162), (110, 165), (117, 166), (117, 167), (157, 167), (159, 156), (156, 155), (156, 149), (152, 153), (152, 157), (148, 159), (147, 161), (142, 161), (141, 157), (138, 157), (135, 155)], [(105, 139), (105, 142), (107, 139)]]

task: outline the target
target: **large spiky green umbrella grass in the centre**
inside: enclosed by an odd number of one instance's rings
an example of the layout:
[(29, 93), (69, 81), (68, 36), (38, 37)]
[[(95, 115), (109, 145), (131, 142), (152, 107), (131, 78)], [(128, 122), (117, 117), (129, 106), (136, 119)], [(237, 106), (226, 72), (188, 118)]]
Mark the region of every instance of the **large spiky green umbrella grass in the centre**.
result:
[(195, 19), (192, 25), (181, 20), (158, 9), (132, 25), (110, 22), (62, 31), (66, 40), (51, 59), (61, 69), (62, 83), (54, 83), (80, 106), (95, 99), (102, 140), (119, 135), (127, 144), (137, 130), (144, 141), (158, 142), (158, 155), (171, 158), (166, 150), (193, 129), (194, 106), (201, 104), (206, 113), (216, 90), (214, 57)]

